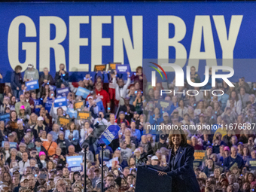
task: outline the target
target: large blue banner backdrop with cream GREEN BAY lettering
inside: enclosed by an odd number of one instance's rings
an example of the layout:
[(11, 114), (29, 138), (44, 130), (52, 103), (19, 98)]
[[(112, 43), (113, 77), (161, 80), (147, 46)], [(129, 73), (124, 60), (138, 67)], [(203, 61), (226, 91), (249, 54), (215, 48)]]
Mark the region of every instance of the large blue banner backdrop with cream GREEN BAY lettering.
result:
[[(186, 52), (182, 58), (190, 57), (192, 47), (197, 50), (197, 45), (192, 46), (191, 43), (194, 35), (194, 42), (201, 42), (200, 51), (203, 53), (207, 49), (205, 58), (203, 56), (200, 59), (251, 59), (247, 62), (233, 62), (233, 78), (245, 76), (246, 81), (254, 81), (255, 10), (256, 2), (1, 3), (0, 72), (4, 76), (4, 82), (10, 81), (10, 74), (18, 62), (23, 69), (26, 69), (29, 62), (33, 62), (40, 71), (45, 66), (50, 66), (53, 78), (59, 63), (65, 62), (71, 81), (81, 80), (85, 74), (93, 71), (94, 65), (101, 63), (130, 63), (134, 72), (137, 66), (142, 66), (142, 59), (160, 58), (160, 53), (166, 50), (166, 46), (161, 46), (164, 40), (160, 42), (160, 34), (164, 34), (163, 30), (166, 30), (160, 26), (159, 16), (162, 15), (167, 16), (162, 19), (162, 23), (168, 16), (175, 16), (177, 21), (167, 23), (167, 38), (172, 39), (175, 35), (184, 33), (184, 37), (177, 41)], [(229, 45), (225, 51), (230, 47), (233, 55), (228, 53), (223, 56), (225, 43), (221, 46), (220, 34), (215, 25), (221, 23), (221, 20), (214, 20), (213, 16), (224, 16), (227, 39), (233, 35), (235, 42), (233, 47)], [(237, 34), (236, 27), (230, 29), (233, 16), (242, 17)], [(197, 22), (196, 17), (199, 19)], [(200, 20), (201, 17), (203, 20)], [(210, 23), (207, 23), (208, 18)], [(202, 21), (205, 24), (200, 26)], [(233, 26), (236, 23), (239, 23), (239, 19), (233, 20)], [(203, 34), (200, 35), (202, 31)], [(224, 33), (222, 31), (221, 34)], [(209, 38), (211, 36), (213, 44)], [(72, 47), (70, 44), (73, 44)], [(212, 54), (209, 55), (212, 53), (212, 45), (215, 58), (212, 58)], [(160, 50), (162, 47), (163, 51)], [(168, 57), (177, 58), (176, 52), (175, 46), (170, 45)], [(71, 64), (69, 59), (74, 53), (79, 54), (72, 57), (75, 64)], [(123, 53), (123, 57), (120, 53)], [(22, 64), (23, 62), (25, 63)], [(200, 64), (197, 68), (204, 65)], [(203, 70), (204, 67), (199, 70), (201, 76)]]

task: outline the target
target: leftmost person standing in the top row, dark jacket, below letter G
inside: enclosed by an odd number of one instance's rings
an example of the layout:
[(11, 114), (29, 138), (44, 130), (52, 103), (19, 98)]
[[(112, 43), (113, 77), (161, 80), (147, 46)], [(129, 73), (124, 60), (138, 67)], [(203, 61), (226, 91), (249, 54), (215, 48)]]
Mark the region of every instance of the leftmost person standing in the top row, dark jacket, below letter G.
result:
[(16, 66), (14, 72), (11, 73), (11, 90), (16, 98), (19, 97), (19, 92), (21, 90), (21, 84), (23, 83), (23, 78), (21, 75), (22, 66)]

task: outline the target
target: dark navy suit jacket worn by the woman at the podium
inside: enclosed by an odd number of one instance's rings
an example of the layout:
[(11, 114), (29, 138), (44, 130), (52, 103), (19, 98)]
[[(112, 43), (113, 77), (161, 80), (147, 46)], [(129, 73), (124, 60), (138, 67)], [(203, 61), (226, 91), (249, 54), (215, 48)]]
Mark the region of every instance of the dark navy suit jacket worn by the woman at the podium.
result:
[[(169, 166), (164, 170), (172, 177), (172, 186), (178, 187), (178, 191), (200, 192), (196, 174), (193, 168), (194, 148), (191, 145), (184, 145), (178, 148), (172, 169), (171, 160), (172, 149), (169, 151)], [(175, 192), (172, 190), (172, 192)]]

